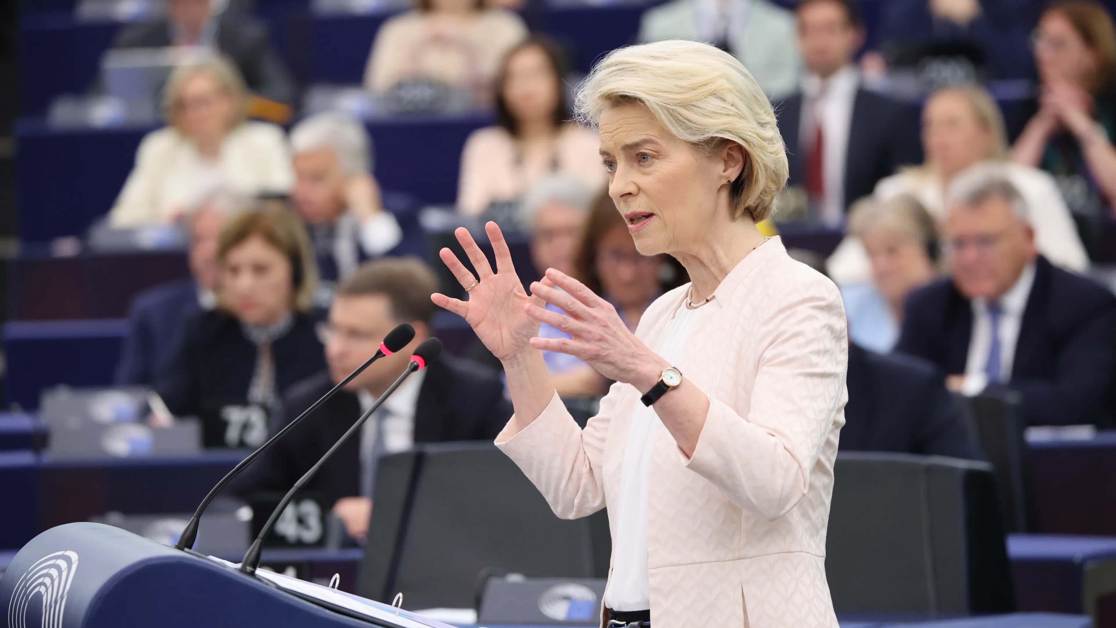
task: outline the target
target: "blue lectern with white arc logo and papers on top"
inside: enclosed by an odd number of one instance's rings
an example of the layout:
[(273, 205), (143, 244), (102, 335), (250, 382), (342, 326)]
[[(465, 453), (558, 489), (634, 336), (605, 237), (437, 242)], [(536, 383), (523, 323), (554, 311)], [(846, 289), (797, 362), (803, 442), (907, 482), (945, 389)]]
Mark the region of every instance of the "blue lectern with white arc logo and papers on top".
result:
[(7, 628), (452, 628), (334, 589), (180, 552), (99, 523), (39, 534), (0, 580)]

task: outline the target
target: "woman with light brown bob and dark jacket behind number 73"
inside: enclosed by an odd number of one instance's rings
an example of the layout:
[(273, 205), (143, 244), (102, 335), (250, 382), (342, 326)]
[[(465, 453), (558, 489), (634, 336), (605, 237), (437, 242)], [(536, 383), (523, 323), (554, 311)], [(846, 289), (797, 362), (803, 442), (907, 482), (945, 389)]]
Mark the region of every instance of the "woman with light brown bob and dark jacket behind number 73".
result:
[(201, 418), (206, 447), (258, 447), (282, 394), (325, 368), (309, 314), (317, 270), (278, 201), (230, 218), (217, 263), (217, 306), (185, 323), (155, 390), (174, 416)]

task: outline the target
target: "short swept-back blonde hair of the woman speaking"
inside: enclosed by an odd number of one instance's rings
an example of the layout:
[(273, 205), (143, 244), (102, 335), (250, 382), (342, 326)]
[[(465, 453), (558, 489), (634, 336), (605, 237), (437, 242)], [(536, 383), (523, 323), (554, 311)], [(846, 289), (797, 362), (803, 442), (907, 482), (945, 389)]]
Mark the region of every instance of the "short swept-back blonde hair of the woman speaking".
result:
[(787, 150), (771, 103), (732, 55), (695, 41), (656, 41), (608, 54), (577, 95), (578, 120), (596, 126), (613, 106), (638, 103), (706, 154), (735, 142), (747, 155), (730, 187), (732, 218), (760, 221), (787, 183)]

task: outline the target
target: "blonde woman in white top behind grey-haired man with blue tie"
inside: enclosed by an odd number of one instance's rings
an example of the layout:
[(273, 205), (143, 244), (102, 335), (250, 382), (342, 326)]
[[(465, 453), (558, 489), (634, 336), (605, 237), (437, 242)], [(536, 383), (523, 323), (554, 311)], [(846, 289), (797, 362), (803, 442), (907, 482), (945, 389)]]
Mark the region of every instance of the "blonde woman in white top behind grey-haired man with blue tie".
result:
[[(959, 85), (935, 92), (923, 110), (922, 144), (926, 162), (881, 181), (874, 193), (877, 199), (908, 194), (942, 220), (950, 183), (974, 166), (993, 169), (1010, 178), (1022, 194), (1039, 253), (1069, 270), (1084, 272), (1089, 267), (1074, 218), (1054, 179), (1041, 170), (1006, 161), (1003, 117), (987, 89)], [(837, 247), (827, 269), (838, 284), (868, 280), (872, 275), (868, 257), (855, 237), (845, 238)]]

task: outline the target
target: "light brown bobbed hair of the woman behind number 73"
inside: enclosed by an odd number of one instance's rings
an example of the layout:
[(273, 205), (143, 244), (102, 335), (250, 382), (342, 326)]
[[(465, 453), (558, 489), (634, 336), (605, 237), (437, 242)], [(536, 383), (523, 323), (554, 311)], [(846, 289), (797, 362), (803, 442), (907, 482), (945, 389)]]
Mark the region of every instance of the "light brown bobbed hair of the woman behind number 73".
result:
[[(217, 241), (217, 261), (224, 265), (229, 251), (252, 236), (263, 238), (290, 260), (292, 310), (307, 312), (314, 305), (318, 285), (318, 267), (310, 248), (310, 238), (301, 219), (282, 201), (264, 200), (232, 218), (221, 229)], [(218, 289), (218, 307), (230, 311)]]

